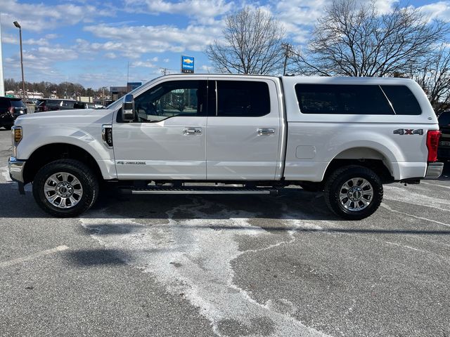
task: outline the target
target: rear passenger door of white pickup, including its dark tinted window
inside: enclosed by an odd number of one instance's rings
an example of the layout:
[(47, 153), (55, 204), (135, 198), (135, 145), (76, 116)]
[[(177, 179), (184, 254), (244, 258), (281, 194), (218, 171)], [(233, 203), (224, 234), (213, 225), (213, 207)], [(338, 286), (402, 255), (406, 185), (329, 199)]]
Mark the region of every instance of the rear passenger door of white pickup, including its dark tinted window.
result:
[[(274, 180), (281, 167), (281, 118), (270, 79), (210, 79), (208, 180)], [(215, 90), (214, 90), (215, 89)]]

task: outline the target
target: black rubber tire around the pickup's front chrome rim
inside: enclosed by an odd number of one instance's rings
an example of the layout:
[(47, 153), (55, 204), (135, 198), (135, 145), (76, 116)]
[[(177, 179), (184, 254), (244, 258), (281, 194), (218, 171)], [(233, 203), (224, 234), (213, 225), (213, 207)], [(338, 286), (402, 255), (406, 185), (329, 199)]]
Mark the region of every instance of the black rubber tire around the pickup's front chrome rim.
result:
[[(56, 173), (68, 173), (79, 180), (81, 197), (74, 206), (60, 208), (52, 204), (44, 194), (47, 180)], [(79, 187), (78, 187), (79, 188)], [(34, 176), (33, 196), (41, 209), (57, 218), (71, 218), (91, 208), (98, 197), (98, 179), (88, 166), (75, 159), (58, 159), (43, 166)], [(75, 189), (75, 185), (74, 185)], [(54, 194), (53, 194), (54, 195)], [(58, 198), (56, 198), (58, 199)], [(61, 198), (60, 198), (61, 199)], [(65, 202), (67, 204), (67, 201)]]

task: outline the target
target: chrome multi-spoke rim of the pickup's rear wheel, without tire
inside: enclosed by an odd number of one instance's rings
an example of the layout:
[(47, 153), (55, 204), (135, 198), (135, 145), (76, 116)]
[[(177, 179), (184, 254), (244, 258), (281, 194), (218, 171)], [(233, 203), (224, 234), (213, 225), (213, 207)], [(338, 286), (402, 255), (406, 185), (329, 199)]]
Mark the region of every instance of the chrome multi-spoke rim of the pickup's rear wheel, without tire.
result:
[(340, 187), (339, 200), (348, 211), (366, 209), (373, 199), (373, 187), (364, 178), (352, 178)]

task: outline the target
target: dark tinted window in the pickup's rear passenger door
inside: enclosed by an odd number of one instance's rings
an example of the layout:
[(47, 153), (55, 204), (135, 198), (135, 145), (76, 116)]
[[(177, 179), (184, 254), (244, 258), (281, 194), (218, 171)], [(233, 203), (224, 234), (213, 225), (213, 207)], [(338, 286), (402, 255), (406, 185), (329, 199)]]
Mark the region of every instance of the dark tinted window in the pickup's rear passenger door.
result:
[(217, 81), (217, 116), (261, 117), (269, 112), (269, 86), (266, 83)]

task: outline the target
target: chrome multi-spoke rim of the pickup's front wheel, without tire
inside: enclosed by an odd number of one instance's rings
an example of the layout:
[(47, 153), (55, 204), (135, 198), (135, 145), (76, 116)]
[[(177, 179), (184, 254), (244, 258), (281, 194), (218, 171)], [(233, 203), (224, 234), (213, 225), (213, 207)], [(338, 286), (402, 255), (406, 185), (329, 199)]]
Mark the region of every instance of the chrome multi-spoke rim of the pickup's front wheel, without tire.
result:
[(46, 180), (44, 195), (47, 201), (58, 209), (70, 209), (82, 199), (83, 187), (71, 173), (58, 172)]

